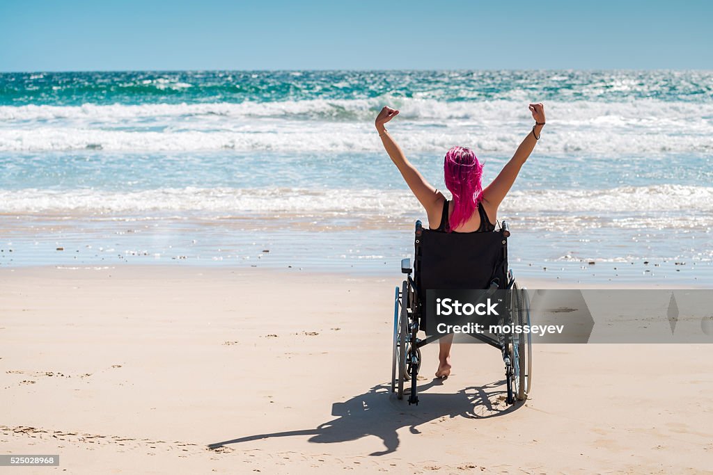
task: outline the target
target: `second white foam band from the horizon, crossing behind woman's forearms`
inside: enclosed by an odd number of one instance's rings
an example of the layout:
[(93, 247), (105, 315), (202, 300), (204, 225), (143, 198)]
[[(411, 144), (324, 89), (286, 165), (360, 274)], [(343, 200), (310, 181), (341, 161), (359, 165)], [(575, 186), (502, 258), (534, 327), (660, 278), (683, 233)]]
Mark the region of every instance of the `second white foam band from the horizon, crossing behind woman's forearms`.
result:
[[(709, 154), (712, 135), (662, 135), (655, 130), (612, 130), (613, 127), (551, 128), (543, 132), (538, 153), (563, 156), (621, 157), (631, 155)], [(394, 126), (394, 137), (406, 152), (441, 155), (453, 145), (476, 152), (511, 154), (528, 131), (525, 124), (487, 128), (460, 126), (444, 129)], [(236, 150), (242, 152), (382, 152), (373, 127), (368, 124), (324, 125), (282, 123), (255, 125), (252, 130), (175, 130), (167, 132), (100, 130), (74, 127), (5, 128), (0, 130), (0, 151), (41, 152), (62, 150), (111, 150), (118, 152), (165, 152)]]

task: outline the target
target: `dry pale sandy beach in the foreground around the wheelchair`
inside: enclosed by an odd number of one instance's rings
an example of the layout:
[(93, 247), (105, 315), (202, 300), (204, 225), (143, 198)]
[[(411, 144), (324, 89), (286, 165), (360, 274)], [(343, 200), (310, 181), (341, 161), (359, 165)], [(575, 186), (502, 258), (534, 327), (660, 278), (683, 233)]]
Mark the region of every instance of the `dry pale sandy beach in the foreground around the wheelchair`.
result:
[(709, 345), (535, 345), (515, 407), (497, 352), (456, 345), (441, 382), (429, 345), (421, 403), (396, 400), (399, 277), (0, 269), (0, 453), (60, 455), (23, 473), (712, 469)]

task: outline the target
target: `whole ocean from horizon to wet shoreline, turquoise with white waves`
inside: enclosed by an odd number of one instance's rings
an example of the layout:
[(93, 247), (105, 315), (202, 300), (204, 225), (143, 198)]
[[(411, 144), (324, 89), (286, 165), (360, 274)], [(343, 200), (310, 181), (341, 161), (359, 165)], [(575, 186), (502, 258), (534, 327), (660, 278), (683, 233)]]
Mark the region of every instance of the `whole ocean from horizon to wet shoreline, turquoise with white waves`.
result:
[[(515, 275), (713, 283), (712, 71), (0, 74), (0, 266), (399, 273), (425, 215), (374, 118), (443, 185), (487, 184), (548, 125), (499, 211)], [(60, 249), (60, 250), (58, 250)]]

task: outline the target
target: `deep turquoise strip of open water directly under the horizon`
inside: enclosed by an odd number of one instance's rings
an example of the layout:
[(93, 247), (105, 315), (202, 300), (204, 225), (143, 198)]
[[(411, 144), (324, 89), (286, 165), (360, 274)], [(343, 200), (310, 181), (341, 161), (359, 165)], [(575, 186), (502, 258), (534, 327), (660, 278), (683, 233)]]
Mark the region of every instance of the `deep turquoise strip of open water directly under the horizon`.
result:
[[(272, 103), (382, 98), (710, 102), (711, 71), (0, 73), (0, 105)], [(344, 110), (343, 118), (354, 118)], [(332, 111), (339, 116), (339, 111)]]

